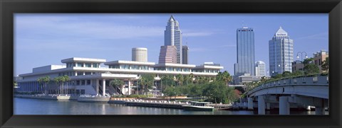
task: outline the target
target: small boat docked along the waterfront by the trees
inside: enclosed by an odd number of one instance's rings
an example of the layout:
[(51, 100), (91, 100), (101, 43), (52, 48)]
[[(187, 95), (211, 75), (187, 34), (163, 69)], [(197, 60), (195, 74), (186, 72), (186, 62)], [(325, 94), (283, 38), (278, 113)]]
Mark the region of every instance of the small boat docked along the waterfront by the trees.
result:
[(214, 107), (208, 106), (209, 102), (190, 101), (190, 105), (182, 105), (184, 110), (212, 111)]

